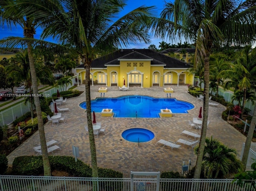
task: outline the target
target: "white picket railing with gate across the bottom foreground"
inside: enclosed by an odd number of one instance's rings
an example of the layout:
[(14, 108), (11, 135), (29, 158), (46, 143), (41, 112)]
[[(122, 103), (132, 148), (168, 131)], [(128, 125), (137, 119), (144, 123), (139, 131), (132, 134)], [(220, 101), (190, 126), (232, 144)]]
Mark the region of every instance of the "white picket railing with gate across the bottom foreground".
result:
[[(255, 191), (252, 181), (240, 187), (233, 179), (133, 180), (133, 191)], [(0, 191), (131, 191), (129, 178), (37, 177), (0, 175)]]

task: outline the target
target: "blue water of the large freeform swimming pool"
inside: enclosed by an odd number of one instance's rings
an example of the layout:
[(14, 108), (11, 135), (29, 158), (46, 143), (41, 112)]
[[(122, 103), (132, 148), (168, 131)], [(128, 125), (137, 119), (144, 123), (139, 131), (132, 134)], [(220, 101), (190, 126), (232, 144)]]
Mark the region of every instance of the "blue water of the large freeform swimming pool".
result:
[[(102, 109), (113, 109), (115, 117), (158, 118), (160, 109), (171, 109), (172, 113), (188, 113), (194, 105), (176, 100), (175, 98), (153, 98), (150, 96), (121, 96), (118, 98), (96, 98), (91, 101), (92, 111), (101, 112)], [(86, 102), (80, 107), (86, 109)]]

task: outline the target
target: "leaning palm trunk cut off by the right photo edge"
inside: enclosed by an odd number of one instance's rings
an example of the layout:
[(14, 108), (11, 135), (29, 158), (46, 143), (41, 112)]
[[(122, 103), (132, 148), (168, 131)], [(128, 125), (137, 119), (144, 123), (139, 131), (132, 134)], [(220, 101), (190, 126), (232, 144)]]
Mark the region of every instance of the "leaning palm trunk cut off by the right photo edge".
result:
[(243, 152), (243, 157), (242, 157), (242, 163), (244, 165), (244, 171), (246, 169), (247, 159), (248, 159), (248, 155), (249, 155), (249, 151), (250, 151), (250, 147), (251, 147), (252, 136), (253, 136), (253, 133), (254, 133), (255, 125), (256, 125), (256, 106), (254, 105), (252, 121), (251, 121), (249, 130), (248, 130), (248, 134), (247, 134), (247, 137), (246, 137), (245, 144), (244, 144), (244, 152)]

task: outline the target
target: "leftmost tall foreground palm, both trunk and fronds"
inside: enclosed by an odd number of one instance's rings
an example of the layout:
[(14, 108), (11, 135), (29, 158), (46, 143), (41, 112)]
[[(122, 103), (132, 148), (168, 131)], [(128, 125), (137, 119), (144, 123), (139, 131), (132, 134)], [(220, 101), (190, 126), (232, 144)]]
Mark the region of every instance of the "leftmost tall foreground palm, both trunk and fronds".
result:
[[(24, 2), (29, 2), (29, 0), (0, 0), (0, 21), (1, 23), (6, 23), (8, 27), (15, 25), (20, 25), (24, 32), (25, 38), (10, 37), (6, 40), (2, 40), (2, 45), (6, 47), (15, 47), (17, 44), (22, 44), (27, 46), (28, 60), (31, 73), (32, 89), (34, 94), (38, 94), (36, 69), (34, 64), (33, 52), (32, 52), (32, 40), (34, 39), (34, 34), (36, 33), (36, 27), (39, 26), (42, 20), (46, 19), (46, 22), (51, 21), (50, 16), (45, 13), (40, 12), (40, 10), (30, 10), (27, 9)], [(41, 5), (42, 2), (41, 2)], [(48, 5), (47, 3), (45, 5)], [(40, 16), (34, 17), (32, 14), (40, 14)], [(29, 40), (30, 39), (30, 40)], [(42, 159), (44, 166), (44, 175), (51, 175), (50, 162), (48, 158), (45, 133), (44, 133), (44, 122), (42, 118), (42, 110), (40, 107), (39, 97), (34, 96), (34, 104), (36, 106), (36, 114), (38, 118), (38, 131), (40, 136), (40, 144), (42, 149)]]

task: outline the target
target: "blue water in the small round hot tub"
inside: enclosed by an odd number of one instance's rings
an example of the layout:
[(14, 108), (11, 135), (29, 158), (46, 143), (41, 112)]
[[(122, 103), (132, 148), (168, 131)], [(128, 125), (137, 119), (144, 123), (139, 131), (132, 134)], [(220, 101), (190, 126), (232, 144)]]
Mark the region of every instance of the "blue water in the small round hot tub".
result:
[(132, 128), (125, 130), (122, 137), (130, 142), (147, 142), (154, 138), (154, 133), (147, 129)]

